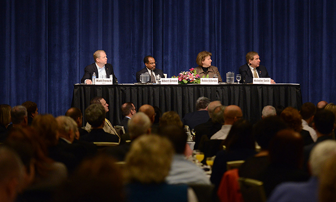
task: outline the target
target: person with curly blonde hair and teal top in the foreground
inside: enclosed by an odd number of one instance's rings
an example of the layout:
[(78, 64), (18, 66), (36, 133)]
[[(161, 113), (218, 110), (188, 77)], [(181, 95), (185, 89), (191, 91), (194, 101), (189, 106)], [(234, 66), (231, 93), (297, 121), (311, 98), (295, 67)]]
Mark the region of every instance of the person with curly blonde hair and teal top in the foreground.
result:
[(158, 135), (142, 135), (126, 156), (126, 197), (128, 201), (197, 201), (187, 185), (167, 184), (174, 148)]

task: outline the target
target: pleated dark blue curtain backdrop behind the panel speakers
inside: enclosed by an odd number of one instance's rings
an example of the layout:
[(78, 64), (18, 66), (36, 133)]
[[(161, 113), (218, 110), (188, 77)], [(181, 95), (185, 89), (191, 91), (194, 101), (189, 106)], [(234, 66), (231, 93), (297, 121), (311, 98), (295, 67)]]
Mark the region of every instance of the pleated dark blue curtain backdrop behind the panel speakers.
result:
[(3, 0), (0, 11), (0, 104), (63, 115), (97, 49), (119, 83), (147, 55), (173, 76), (207, 50), (225, 77), (256, 51), (277, 83), (301, 84), (303, 102), (335, 102), (333, 0)]

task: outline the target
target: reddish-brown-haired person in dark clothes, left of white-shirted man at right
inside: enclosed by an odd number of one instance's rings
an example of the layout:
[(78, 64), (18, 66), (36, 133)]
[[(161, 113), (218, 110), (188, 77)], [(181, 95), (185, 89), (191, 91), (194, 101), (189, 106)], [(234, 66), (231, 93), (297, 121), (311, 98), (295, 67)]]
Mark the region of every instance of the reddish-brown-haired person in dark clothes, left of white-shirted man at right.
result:
[(281, 112), (280, 117), (288, 125), (288, 127), (301, 134), (304, 145), (314, 142), (309, 132), (307, 130), (302, 130), (302, 116), (297, 109), (286, 107)]

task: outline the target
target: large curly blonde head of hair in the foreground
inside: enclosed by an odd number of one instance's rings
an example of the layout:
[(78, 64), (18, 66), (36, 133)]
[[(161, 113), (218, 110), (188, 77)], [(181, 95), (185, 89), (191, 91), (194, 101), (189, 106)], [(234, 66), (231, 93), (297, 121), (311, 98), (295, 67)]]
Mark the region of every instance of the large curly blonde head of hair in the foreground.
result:
[(158, 135), (142, 135), (134, 140), (126, 155), (126, 178), (143, 184), (162, 183), (169, 174), (174, 148)]

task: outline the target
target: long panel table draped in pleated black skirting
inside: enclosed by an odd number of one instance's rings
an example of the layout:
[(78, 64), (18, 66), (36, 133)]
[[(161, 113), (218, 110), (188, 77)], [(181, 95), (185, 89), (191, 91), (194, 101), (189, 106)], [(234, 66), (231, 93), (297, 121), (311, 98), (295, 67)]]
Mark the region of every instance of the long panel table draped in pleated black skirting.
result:
[[(136, 109), (149, 104), (162, 112), (175, 111), (180, 117), (196, 110), (200, 96), (211, 101), (220, 100), (225, 106), (242, 108), (245, 119), (252, 123), (261, 119), (261, 111), (267, 105), (294, 107), (300, 109), (302, 96), (300, 84), (218, 84), (218, 85), (160, 85), (160, 84), (118, 84), (88, 85), (74, 84), (72, 107), (79, 108), (84, 116), (90, 99), (102, 96), (109, 104), (107, 118), (117, 125), (122, 119), (120, 107), (132, 102)], [(86, 123), (83, 119), (83, 123)]]

